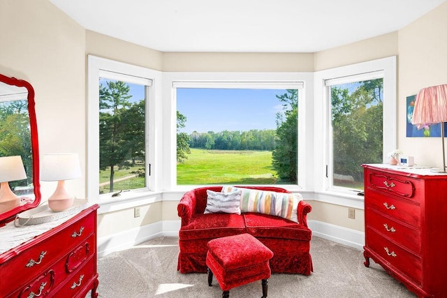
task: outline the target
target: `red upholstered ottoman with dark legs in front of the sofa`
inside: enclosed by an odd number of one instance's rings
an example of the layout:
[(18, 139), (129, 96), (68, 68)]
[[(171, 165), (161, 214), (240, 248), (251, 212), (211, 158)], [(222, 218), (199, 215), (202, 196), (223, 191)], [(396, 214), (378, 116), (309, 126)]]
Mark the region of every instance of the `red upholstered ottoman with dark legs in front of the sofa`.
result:
[(208, 285), (216, 276), (222, 297), (230, 296), (230, 289), (262, 279), (263, 297), (267, 297), (272, 251), (251, 234), (213, 239), (208, 242)]

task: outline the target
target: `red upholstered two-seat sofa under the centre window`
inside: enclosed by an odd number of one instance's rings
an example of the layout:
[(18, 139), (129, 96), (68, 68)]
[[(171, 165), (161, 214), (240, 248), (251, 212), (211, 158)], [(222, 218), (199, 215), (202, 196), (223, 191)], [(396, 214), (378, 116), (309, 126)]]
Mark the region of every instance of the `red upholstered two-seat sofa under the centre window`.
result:
[[(263, 191), (288, 193), (284, 188), (248, 187)], [(203, 214), (207, 206), (207, 190), (220, 192), (222, 186), (196, 188), (185, 193), (177, 211), (182, 218), (179, 230), (179, 258), (181, 273), (207, 271), (207, 243), (219, 237), (249, 233), (274, 253), (270, 268), (276, 273), (311, 274), (309, 253), (312, 231), (307, 227), (307, 214), (312, 207), (301, 200), (298, 204), (298, 223), (279, 216), (260, 213)]]

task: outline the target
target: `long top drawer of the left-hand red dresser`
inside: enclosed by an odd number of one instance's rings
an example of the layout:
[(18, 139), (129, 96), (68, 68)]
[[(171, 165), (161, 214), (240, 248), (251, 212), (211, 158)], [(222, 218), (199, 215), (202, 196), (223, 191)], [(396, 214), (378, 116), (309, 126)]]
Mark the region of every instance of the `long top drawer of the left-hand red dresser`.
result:
[[(87, 237), (92, 234), (94, 234), (94, 213), (85, 218), (80, 218), (73, 225), (47, 239), (38, 241), (20, 255), (8, 260), (6, 264), (1, 266), (0, 278), (13, 285), (35, 281), (35, 279), (29, 280), (29, 278), (40, 276), (43, 271), (47, 272), (47, 269), (50, 269), (57, 260), (70, 253), (73, 248), (77, 247), (77, 244), (84, 243)], [(90, 247), (92, 245), (93, 243)], [(0, 295), (4, 294), (6, 293), (3, 293), (2, 287)]]

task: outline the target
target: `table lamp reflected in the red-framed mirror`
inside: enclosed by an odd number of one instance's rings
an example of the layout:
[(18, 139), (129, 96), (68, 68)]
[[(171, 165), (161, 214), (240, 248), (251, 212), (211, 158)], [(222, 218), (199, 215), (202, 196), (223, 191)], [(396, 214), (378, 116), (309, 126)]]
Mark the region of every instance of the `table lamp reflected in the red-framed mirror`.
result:
[(0, 213), (20, 205), (20, 198), (11, 191), (9, 181), (27, 179), (22, 157), (0, 157)]

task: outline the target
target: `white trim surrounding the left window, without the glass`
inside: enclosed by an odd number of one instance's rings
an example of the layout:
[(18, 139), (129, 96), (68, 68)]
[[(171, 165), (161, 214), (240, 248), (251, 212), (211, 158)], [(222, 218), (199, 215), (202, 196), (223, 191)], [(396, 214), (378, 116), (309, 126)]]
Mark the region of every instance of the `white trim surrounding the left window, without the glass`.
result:
[[(154, 191), (159, 191), (159, 180), (161, 177), (161, 168), (156, 165), (161, 164), (159, 159), (161, 154), (161, 133), (156, 129), (161, 120), (161, 72), (143, 68), (140, 66), (134, 66), (131, 64), (124, 64), (122, 62), (104, 59), (101, 57), (88, 56), (88, 82), (87, 82), (87, 144), (88, 144), (88, 157), (87, 157), (87, 198), (89, 201), (98, 204), (110, 204), (110, 194), (98, 194), (99, 187), (99, 105), (98, 105), (98, 90), (99, 82), (98, 78), (101, 76), (101, 72), (105, 70), (111, 73), (122, 73), (124, 75), (132, 75), (142, 77), (146, 80), (152, 81), (152, 87), (149, 88), (149, 94), (147, 98), (146, 117), (148, 120), (146, 138), (149, 142), (149, 152), (146, 154), (146, 167), (151, 164), (151, 177), (147, 179), (147, 188), (130, 191), (129, 193), (123, 193), (115, 202), (125, 200), (135, 200), (138, 198), (146, 198), (147, 195), (151, 195)], [(135, 82), (135, 81), (134, 81)]]

